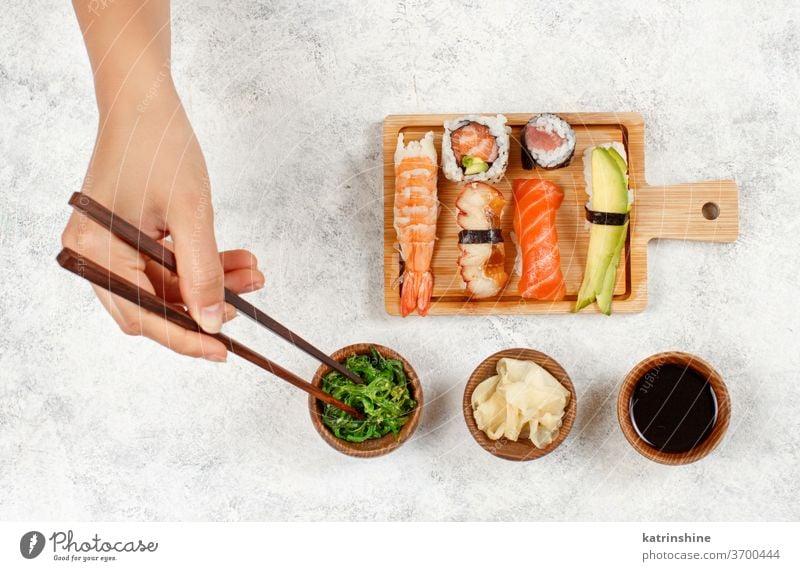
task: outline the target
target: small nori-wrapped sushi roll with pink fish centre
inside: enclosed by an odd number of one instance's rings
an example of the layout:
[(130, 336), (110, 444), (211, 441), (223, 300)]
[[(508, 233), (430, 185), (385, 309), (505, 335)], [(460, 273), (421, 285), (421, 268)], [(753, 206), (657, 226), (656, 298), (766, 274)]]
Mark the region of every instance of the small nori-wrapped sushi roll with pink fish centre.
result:
[(558, 115), (535, 115), (522, 128), (522, 168), (556, 169), (569, 164), (575, 152), (575, 131)]

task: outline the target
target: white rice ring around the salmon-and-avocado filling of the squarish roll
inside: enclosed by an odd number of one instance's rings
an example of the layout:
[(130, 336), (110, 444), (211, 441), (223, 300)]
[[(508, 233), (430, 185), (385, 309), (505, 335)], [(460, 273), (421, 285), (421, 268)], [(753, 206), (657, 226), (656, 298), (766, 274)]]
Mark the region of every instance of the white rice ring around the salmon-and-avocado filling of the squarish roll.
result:
[[(506, 126), (506, 121), (505, 115), (497, 115), (495, 117), (490, 115), (465, 115), (464, 117), (445, 121), (444, 136), (442, 137), (442, 170), (444, 176), (453, 182), (495, 183), (503, 178), (508, 167), (508, 135), (511, 133), (511, 127)], [(485, 172), (466, 175), (461, 165), (456, 161), (450, 135), (465, 123), (479, 123), (486, 126), (497, 141), (497, 159)]]

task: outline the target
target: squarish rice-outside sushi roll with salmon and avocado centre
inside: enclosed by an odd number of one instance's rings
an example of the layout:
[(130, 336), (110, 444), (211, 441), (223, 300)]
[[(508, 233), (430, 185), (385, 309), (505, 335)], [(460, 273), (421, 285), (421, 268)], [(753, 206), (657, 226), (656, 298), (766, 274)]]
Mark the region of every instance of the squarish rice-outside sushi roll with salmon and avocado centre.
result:
[(508, 166), (504, 115), (467, 115), (444, 123), (442, 170), (453, 182), (497, 182)]

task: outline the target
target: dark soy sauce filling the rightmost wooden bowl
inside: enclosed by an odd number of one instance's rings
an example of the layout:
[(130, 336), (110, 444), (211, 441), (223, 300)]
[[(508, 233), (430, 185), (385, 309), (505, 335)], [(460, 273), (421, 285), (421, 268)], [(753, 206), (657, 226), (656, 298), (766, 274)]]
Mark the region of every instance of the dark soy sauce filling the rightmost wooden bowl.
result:
[(687, 452), (703, 442), (717, 420), (708, 380), (691, 367), (662, 365), (636, 383), (630, 401), (633, 427), (662, 452)]

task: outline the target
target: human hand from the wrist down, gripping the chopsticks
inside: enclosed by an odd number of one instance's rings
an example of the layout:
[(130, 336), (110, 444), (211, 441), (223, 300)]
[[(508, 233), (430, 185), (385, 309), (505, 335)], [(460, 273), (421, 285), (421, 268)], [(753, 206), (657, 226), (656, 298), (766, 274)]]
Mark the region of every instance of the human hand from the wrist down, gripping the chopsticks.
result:
[[(211, 190), (200, 145), (180, 99), (167, 78), (158, 97), (135, 107), (117, 94), (103, 107), (94, 153), (82, 192), (175, 252), (177, 275), (136, 249), (73, 213), (62, 234), (64, 246), (110, 271), (184, 305), (201, 327), (216, 333), (235, 315), (224, 303), (223, 286), (236, 293), (263, 287), (264, 275), (246, 250), (219, 253), (213, 226)], [(100, 302), (120, 328), (170, 349), (224, 361), (221, 342), (187, 331), (162, 317), (94, 286)]]

